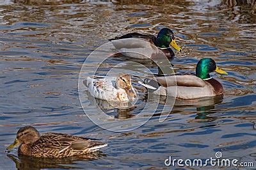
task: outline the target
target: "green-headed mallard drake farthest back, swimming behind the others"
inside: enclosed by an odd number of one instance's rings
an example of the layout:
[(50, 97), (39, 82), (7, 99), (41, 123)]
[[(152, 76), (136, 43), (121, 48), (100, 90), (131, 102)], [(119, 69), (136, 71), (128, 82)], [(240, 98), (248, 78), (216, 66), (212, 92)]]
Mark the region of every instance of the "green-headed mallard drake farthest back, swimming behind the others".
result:
[(170, 45), (175, 50), (181, 51), (179, 45), (175, 42), (172, 30), (166, 27), (159, 31), (157, 37), (154, 35), (129, 33), (123, 36), (116, 36), (109, 41), (113, 43), (119, 52), (131, 58), (147, 59), (148, 57), (159, 58), (161, 56), (172, 58), (175, 54)]

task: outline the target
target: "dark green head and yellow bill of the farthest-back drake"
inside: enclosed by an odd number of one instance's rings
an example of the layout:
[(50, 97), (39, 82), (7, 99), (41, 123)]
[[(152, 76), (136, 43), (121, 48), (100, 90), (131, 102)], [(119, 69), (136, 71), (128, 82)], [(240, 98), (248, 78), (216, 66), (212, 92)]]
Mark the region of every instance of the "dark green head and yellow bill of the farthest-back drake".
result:
[(167, 27), (164, 27), (159, 31), (156, 38), (156, 45), (163, 49), (169, 48), (170, 45), (172, 45), (175, 50), (181, 51), (179, 45), (175, 42), (172, 30)]

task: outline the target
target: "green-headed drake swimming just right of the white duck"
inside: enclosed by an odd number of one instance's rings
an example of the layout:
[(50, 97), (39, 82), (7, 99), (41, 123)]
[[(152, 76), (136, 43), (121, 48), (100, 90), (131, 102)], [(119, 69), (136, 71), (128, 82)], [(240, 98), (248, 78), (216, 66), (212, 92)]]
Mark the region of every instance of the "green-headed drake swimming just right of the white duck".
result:
[(210, 77), (209, 73), (217, 72), (228, 75), (221, 70), (211, 58), (200, 59), (196, 65), (196, 74), (183, 73), (156, 79), (145, 79), (144, 83), (148, 91), (157, 95), (168, 95), (182, 99), (202, 97), (214, 97), (223, 95), (223, 86), (220, 82)]

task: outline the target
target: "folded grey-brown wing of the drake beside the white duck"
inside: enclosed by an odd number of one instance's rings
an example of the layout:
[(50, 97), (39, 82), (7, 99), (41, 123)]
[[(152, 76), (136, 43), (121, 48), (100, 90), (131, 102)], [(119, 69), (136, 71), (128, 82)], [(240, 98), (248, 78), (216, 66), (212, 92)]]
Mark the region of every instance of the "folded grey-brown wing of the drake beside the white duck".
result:
[(194, 75), (175, 75), (167, 77), (156, 77), (157, 82), (164, 87), (186, 86), (203, 88), (206, 83), (204, 80)]

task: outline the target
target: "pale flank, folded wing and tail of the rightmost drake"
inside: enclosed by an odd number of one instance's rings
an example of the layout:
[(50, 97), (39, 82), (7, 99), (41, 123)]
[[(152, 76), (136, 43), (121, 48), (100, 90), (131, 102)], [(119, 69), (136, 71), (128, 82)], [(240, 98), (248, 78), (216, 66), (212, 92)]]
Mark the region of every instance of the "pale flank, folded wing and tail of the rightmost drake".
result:
[(191, 73), (145, 79), (144, 83), (139, 84), (145, 86), (148, 92), (182, 99), (214, 96), (211, 84)]

